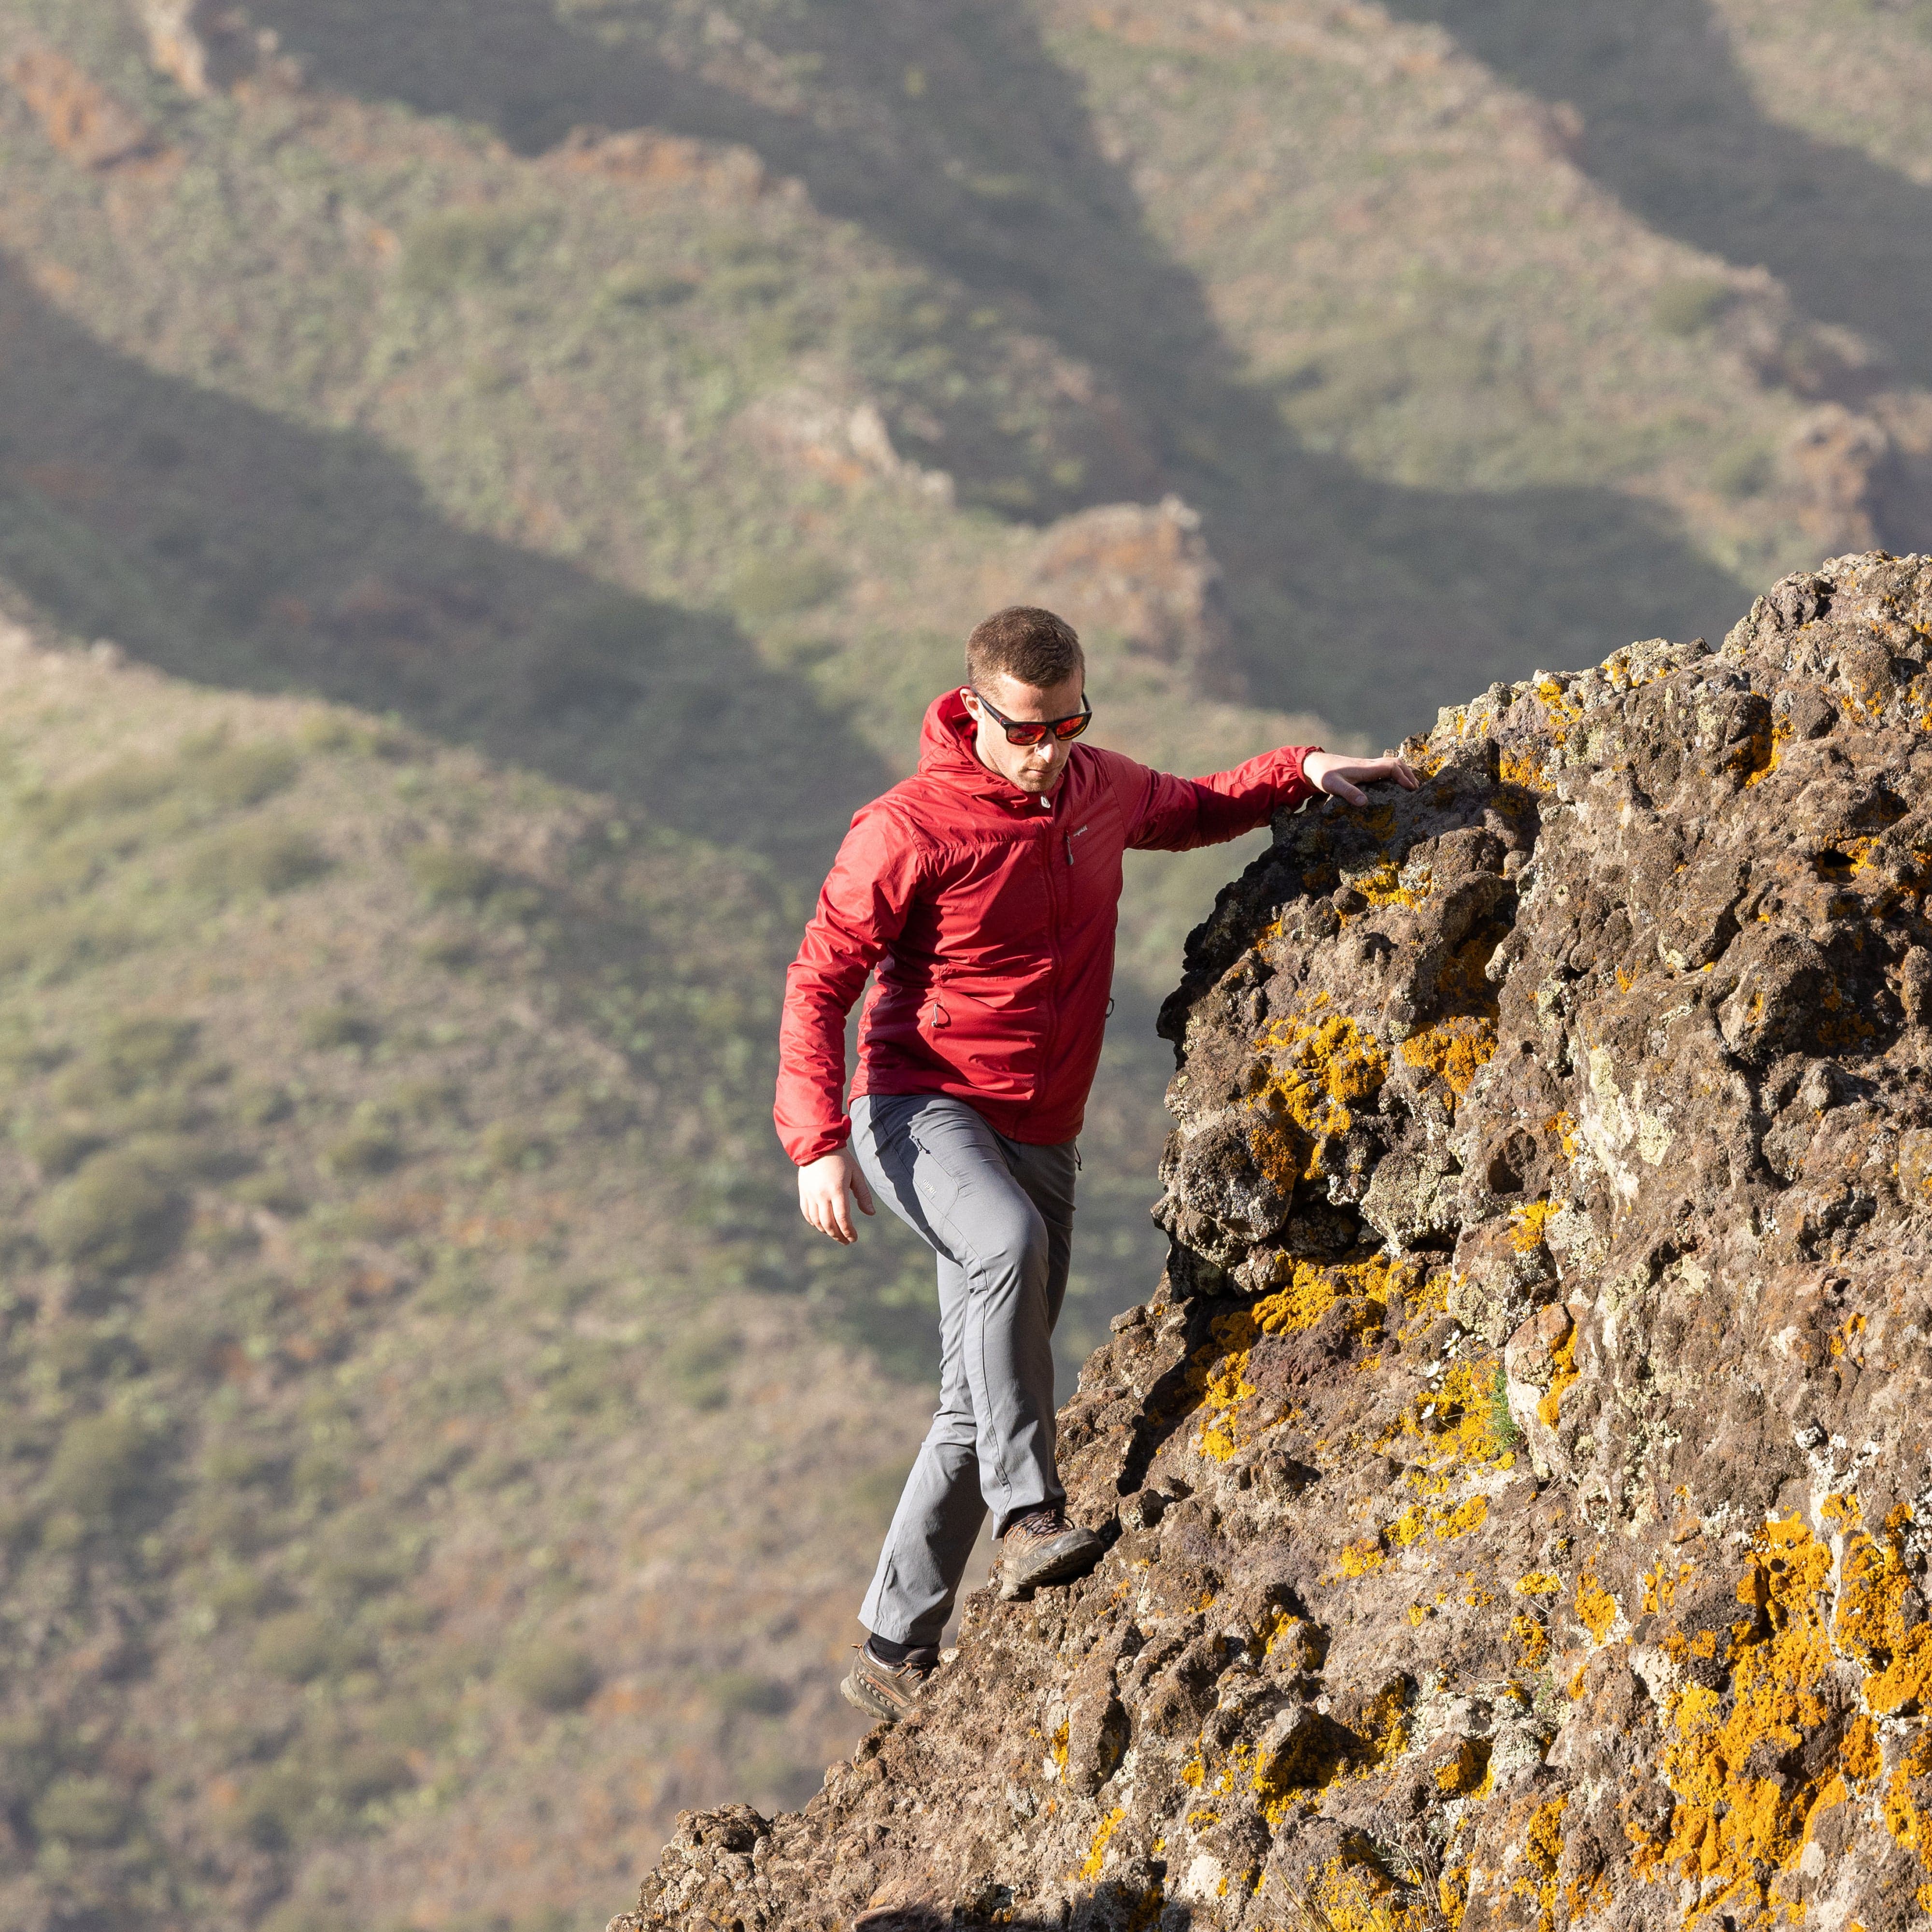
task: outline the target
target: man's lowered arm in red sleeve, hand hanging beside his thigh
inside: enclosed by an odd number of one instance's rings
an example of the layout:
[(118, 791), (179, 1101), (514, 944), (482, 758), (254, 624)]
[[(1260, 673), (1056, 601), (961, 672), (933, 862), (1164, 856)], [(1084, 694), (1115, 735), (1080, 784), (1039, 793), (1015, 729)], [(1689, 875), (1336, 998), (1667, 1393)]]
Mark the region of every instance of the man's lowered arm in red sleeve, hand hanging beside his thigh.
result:
[(798, 1165), (798, 1206), (833, 1240), (854, 1238), (846, 1194), (871, 1213), (871, 1192), (846, 1142), (846, 1014), (866, 976), (900, 935), (918, 879), (918, 850), (889, 813), (862, 811), (833, 862), (798, 958), (784, 974), (779, 1095), (773, 1119)]

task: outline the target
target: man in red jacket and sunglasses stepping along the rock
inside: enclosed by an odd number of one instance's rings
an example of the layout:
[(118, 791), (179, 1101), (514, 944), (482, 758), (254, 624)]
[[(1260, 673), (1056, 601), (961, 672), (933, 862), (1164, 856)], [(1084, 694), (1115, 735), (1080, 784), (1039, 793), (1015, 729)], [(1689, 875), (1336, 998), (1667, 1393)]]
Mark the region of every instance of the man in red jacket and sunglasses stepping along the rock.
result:
[[(1080, 639), (1051, 611), (989, 616), (966, 686), (925, 713), (920, 769), (854, 819), (786, 974), (775, 1119), (804, 1217), (856, 1238), (873, 1198), (939, 1256), (939, 1410), (860, 1609), (846, 1698), (896, 1721), (993, 1511), (1001, 1590), (1101, 1553), (1053, 1464), (1053, 1323), (1072, 1244), (1074, 1136), (1099, 1063), (1126, 848), (1236, 838), (1318, 792), (1416, 779), (1397, 757), (1264, 752), (1173, 779), (1080, 744)], [(844, 1024), (860, 1065), (844, 1107)]]

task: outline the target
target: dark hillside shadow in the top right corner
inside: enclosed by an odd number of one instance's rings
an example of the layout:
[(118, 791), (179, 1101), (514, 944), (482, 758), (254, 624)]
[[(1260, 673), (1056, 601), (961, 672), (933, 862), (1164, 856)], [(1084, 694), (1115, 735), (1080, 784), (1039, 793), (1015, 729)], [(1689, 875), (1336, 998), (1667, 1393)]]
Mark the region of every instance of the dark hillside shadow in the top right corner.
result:
[[(1710, 0), (1389, 0), (1478, 60), (1582, 110), (1577, 160), (1654, 228), (1882, 342), (1932, 383), (1932, 187), (1768, 120)], [(1804, 102), (1793, 102), (1803, 110)]]

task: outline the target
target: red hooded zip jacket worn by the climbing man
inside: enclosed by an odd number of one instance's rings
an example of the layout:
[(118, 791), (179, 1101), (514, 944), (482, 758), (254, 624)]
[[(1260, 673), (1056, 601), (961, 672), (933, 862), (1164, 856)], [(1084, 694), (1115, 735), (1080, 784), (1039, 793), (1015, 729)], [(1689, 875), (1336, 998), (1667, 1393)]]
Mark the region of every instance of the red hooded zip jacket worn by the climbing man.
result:
[(1173, 779), (1076, 744), (1051, 798), (974, 757), (956, 690), (933, 699), (920, 769), (852, 819), (784, 976), (779, 1103), (798, 1163), (842, 1148), (844, 1022), (860, 1094), (952, 1094), (1009, 1140), (1080, 1132), (1113, 983), (1121, 854), (1238, 838), (1314, 796), (1285, 746), (1211, 779)]

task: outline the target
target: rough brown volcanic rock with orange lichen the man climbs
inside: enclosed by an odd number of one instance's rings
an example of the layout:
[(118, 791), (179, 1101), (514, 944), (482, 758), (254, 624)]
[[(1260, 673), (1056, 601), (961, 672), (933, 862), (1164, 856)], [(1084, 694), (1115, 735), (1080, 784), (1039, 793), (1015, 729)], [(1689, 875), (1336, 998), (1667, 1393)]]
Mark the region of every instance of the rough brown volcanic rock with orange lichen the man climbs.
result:
[(1932, 1905), (1932, 558), (1493, 686), (1194, 935), (1086, 1580), (638, 1928)]

